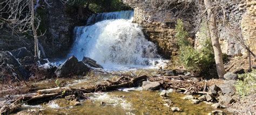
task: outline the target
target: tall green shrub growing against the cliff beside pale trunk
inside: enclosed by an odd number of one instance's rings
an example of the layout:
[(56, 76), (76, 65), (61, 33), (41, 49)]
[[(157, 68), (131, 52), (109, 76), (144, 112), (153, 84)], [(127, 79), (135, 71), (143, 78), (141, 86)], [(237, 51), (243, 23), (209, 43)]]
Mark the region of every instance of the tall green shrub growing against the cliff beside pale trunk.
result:
[[(188, 33), (184, 30), (183, 22), (178, 19), (176, 25), (176, 38), (179, 49), (180, 63), (189, 71), (204, 73), (214, 64), (213, 48), (210, 37), (205, 34), (205, 39), (201, 41), (202, 48), (196, 50), (188, 40)], [(200, 31), (207, 31), (203, 28)]]

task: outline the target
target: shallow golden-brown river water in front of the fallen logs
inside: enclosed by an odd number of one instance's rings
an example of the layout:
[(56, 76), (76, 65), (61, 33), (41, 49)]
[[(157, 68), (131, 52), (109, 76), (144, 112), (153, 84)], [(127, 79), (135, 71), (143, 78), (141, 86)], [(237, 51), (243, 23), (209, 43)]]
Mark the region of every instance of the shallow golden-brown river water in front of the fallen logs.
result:
[[(184, 94), (172, 92), (167, 99), (173, 105), (166, 106), (160, 91), (113, 91), (90, 94), (90, 99), (78, 106), (65, 104), (42, 104), (44, 114), (208, 114), (214, 109), (204, 102), (192, 104), (181, 99)], [(56, 102), (65, 99), (57, 99)], [(179, 107), (181, 112), (172, 112), (171, 107)]]

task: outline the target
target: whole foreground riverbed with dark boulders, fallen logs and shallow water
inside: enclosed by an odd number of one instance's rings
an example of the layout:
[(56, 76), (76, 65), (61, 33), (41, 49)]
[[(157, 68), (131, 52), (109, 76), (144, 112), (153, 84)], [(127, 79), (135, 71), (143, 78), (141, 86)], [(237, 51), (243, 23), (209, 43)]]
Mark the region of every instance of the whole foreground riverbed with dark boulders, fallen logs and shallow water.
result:
[[(255, 110), (255, 95), (240, 98), (233, 86), (238, 76), (231, 72), (224, 76), (226, 80), (204, 80), (184, 70), (161, 67), (104, 70), (87, 57), (78, 61), (72, 56), (55, 66), (44, 59), (34, 60), (25, 48), (1, 54), (5, 57), (2, 66), (17, 72), (13, 81), (19, 80), (1, 84), (1, 113), (215, 114)], [(26, 98), (35, 101), (23, 100)]]

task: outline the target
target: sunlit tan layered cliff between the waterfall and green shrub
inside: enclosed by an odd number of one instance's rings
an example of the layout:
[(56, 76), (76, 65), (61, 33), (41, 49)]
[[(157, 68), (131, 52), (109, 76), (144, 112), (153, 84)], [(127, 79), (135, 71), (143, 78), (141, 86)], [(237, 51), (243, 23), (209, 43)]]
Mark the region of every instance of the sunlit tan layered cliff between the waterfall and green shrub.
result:
[[(177, 19), (183, 19), (188, 31), (193, 29), (193, 5), (174, 2), (129, 1), (124, 3), (134, 9), (134, 23), (138, 23), (147, 39), (157, 44), (159, 53), (170, 58), (178, 50), (174, 35)], [(185, 9), (185, 10), (183, 10)], [(193, 37), (193, 34), (190, 35)]]

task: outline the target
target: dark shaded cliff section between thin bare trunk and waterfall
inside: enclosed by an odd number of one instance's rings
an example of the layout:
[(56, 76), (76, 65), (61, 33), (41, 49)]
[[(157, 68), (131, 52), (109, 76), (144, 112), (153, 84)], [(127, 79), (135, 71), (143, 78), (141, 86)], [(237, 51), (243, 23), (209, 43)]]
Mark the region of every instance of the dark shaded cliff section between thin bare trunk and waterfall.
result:
[(73, 42), (75, 26), (85, 25), (91, 11), (83, 9), (83, 16), (78, 15), (78, 8), (63, 4), (60, 0), (49, 1), (48, 6), (41, 14), (46, 34), (39, 39), (48, 57), (65, 56)]

